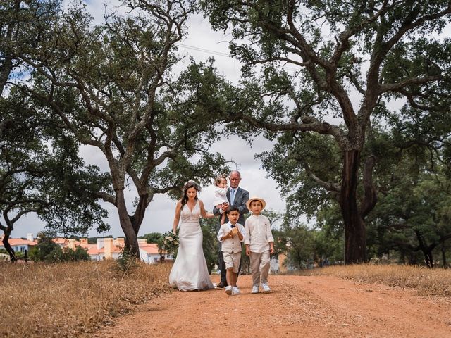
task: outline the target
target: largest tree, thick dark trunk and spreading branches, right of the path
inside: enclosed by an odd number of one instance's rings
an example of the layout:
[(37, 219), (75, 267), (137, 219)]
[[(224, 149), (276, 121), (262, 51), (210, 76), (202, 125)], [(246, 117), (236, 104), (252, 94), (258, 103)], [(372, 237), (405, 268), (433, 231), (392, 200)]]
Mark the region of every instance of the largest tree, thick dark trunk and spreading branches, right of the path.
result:
[[(412, 109), (428, 121), (449, 113), (449, 1), (204, 0), (202, 7), (214, 29), (231, 33), (231, 54), (245, 63), (243, 90), (225, 118), (247, 122), (239, 130), (249, 137), (278, 136), (286, 161), (266, 157), (267, 167), (299, 167), (295, 189), (309, 192), (293, 193), (307, 197), (310, 213), (321, 204), (308, 195), (335, 196), (346, 263), (366, 261), (365, 219), (378, 192), (376, 156), (364, 153), (371, 123), (407, 127)], [(394, 100), (405, 103), (393, 109), (400, 125), (387, 114)], [(325, 153), (312, 142), (327, 144)], [(317, 164), (326, 154), (340, 161), (330, 171), (330, 161)]]

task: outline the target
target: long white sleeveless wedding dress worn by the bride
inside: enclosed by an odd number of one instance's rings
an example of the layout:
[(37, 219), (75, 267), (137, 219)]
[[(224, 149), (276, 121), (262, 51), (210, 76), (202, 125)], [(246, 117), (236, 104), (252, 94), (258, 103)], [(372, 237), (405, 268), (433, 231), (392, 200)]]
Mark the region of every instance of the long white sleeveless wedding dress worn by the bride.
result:
[(180, 211), (180, 244), (169, 274), (169, 284), (180, 291), (213, 289), (202, 251), (203, 236), (199, 217), (199, 201), (196, 201), (192, 211), (186, 204)]

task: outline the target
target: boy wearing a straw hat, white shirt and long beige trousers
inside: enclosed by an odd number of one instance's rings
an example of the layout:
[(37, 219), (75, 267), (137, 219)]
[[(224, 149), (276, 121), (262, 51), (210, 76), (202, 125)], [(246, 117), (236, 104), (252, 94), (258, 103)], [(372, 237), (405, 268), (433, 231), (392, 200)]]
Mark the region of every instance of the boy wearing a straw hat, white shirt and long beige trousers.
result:
[(266, 203), (253, 197), (246, 204), (252, 215), (245, 221), (246, 255), (250, 256), (252, 273), (252, 294), (259, 293), (259, 285), (264, 293), (271, 292), (268, 285), (269, 260), (274, 252), (274, 238), (269, 219), (261, 215)]

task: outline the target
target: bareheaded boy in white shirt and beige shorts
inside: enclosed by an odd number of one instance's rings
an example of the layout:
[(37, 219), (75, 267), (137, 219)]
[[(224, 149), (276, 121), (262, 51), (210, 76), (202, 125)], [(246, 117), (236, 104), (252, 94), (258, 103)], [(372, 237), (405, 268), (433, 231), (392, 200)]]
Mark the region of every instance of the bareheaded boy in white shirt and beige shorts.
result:
[(226, 294), (240, 294), (237, 287), (238, 268), (241, 261), (241, 247), (245, 240), (245, 228), (237, 223), (240, 211), (236, 206), (230, 206), (226, 211), (228, 223), (221, 225), (218, 231), (218, 241), (221, 242), (224, 263), (226, 263)]

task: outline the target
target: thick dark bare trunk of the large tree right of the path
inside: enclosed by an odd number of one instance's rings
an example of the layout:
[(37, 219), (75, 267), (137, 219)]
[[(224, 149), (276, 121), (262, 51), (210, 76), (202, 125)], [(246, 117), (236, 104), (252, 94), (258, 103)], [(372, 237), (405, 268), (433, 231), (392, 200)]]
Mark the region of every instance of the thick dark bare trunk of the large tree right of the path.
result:
[(357, 206), (360, 151), (345, 151), (343, 158), (340, 211), (345, 223), (345, 264), (366, 261), (366, 228)]

